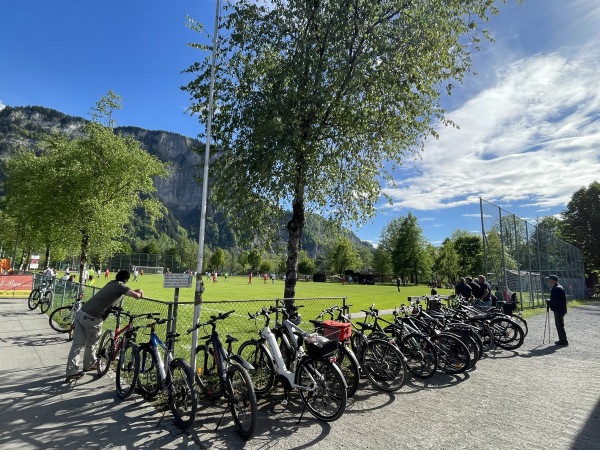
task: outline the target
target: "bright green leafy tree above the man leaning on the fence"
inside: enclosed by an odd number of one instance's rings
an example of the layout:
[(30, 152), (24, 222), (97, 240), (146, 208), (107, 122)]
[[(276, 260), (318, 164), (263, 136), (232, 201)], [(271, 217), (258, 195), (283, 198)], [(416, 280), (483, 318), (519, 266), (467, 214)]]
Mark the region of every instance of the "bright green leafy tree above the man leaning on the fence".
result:
[[(107, 109), (105, 104), (113, 105), (114, 99), (110, 93), (107, 97), (96, 103), (94, 117), (112, 123), (112, 106)], [(80, 274), (91, 248), (104, 256), (118, 247), (136, 208), (144, 209), (150, 220), (162, 215), (164, 207), (150, 196), (156, 189), (152, 178), (168, 173), (166, 165), (132, 137), (94, 121), (86, 125), (85, 133), (73, 140), (58, 134), (48, 137), (41, 156), (55, 192), (61, 193), (55, 208), (71, 217), (77, 229)]]

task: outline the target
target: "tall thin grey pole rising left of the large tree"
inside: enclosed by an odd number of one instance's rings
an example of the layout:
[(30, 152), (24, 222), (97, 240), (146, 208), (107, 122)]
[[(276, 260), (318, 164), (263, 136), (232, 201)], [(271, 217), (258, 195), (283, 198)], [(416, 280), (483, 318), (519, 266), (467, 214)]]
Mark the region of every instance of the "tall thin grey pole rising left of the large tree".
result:
[[(196, 266), (196, 292), (194, 294), (194, 322), (198, 323), (200, 308), (202, 306), (202, 293), (204, 283), (202, 282), (202, 263), (204, 260), (204, 231), (206, 229), (206, 204), (208, 195), (208, 164), (210, 162), (210, 140), (213, 114), (213, 94), (215, 90), (215, 66), (217, 65), (217, 44), (219, 41), (219, 11), (220, 0), (216, 1), (215, 29), (213, 32), (213, 52), (210, 68), (210, 88), (208, 91), (208, 117), (206, 120), (206, 151), (204, 152), (204, 176), (202, 178), (202, 203), (200, 205), (200, 230), (198, 233), (198, 265)], [(192, 348), (190, 353), (190, 366), (196, 373), (196, 347), (198, 345), (198, 330), (192, 334)]]

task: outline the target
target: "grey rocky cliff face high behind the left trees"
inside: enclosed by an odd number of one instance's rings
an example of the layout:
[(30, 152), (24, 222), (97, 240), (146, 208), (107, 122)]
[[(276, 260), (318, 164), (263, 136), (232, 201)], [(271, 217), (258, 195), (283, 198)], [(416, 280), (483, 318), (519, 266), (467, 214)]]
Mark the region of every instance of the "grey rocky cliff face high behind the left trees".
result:
[[(86, 122), (81, 117), (39, 106), (6, 107), (0, 111), (0, 159), (10, 157), (19, 146), (38, 148), (42, 134), (60, 132), (80, 137)], [(183, 226), (190, 216), (197, 221), (195, 212), (199, 210), (202, 189), (195, 177), (201, 161), (193, 148), (200, 147), (200, 141), (137, 127), (117, 127), (115, 132), (132, 135), (148, 153), (171, 164), (171, 175), (154, 182), (157, 195)]]

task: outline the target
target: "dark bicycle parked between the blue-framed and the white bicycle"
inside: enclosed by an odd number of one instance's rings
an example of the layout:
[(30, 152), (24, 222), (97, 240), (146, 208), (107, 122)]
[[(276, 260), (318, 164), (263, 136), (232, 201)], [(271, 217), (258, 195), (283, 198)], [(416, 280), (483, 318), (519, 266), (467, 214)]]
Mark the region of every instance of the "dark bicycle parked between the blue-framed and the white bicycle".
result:
[(227, 407), (215, 429), (219, 428), (227, 409), (231, 408), (237, 432), (247, 440), (254, 435), (258, 415), (254, 385), (248, 373), (248, 370), (253, 370), (254, 367), (233, 353), (232, 344), (238, 339), (226, 335), (227, 350), (225, 350), (217, 332), (217, 322), (227, 319), (234, 312), (210, 316), (210, 320), (196, 324), (187, 332), (189, 334), (207, 325), (211, 327), (210, 334), (200, 338), (206, 340), (206, 343), (196, 347), (198, 358), (196, 385), (211, 399), (225, 397), (227, 400)]

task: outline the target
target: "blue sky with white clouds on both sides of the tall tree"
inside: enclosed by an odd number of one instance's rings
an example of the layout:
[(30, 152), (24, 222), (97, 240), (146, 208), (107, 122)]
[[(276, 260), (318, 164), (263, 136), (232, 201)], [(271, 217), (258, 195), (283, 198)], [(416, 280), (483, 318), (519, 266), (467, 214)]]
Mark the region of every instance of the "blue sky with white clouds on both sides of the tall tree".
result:
[[(444, 99), (460, 129), (397, 171), (377, 217), (357, 235), (376, 243), (409, 211), (439, 244), (456, 228), (481, 229), (479, 197), (534, 222), (563, 210), (600, 180), (600, 2), (514, 0), (489, 29), (496, 40)], [(117, 125), (195, 137), (181, 71), (199, 59), (186, 15), (214, 24), (212, 0), (63, 0), (0, 3), (0, 108), (40, 105), (89, 117), (108, 90), (123, 97)]]

